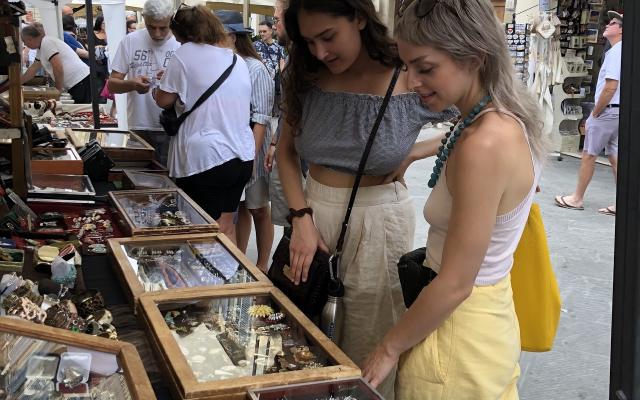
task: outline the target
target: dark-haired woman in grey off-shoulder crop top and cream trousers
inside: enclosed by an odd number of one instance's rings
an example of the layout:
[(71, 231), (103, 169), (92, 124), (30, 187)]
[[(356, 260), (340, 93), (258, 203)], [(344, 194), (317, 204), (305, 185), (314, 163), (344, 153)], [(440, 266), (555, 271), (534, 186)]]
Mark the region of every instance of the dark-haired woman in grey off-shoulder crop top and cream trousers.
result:
[[(283, 72), (284, 126), (276, 159), (292, 209), (294, 282), (305, 281), (318, 248), (334, 249), (358, 164), (394, 70), (400, 65), (371, 0), (292, 0)], [(346, 234), (338, 345), (357, 364), (405, 311), (396, 263), (413, 245), (415, 211), (402, 175), (431, 113), (398, 80), (368, 158)], [(436, 141), (431, 141), (437, 148)], [(411, 154), (410, 154), (411, 153)], [(303, 191), (299, 160), (309, 163)], [(301, 213), (303, 215), (301, 215)], [(313, 215), (311, 215), (313, 214)], [(395, 377), (380, 391), (393, 399)]]

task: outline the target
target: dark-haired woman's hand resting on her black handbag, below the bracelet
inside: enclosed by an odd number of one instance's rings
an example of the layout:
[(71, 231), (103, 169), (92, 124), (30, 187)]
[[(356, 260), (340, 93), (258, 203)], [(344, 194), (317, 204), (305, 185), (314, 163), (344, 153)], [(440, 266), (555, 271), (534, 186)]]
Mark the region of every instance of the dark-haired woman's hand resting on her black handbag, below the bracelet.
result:
[(320, 233), (313, 223), (310, 215), (293, 219), (293, 233), (291, 234), (291, 243), (289, 245), (289, 253), (291, 259), (289, 265), (293, 273), (293, 282), (296, 285), (300, 281), (306, 282), (309, 273), (309, 266), (313, 261), (316, 250), (324, 250), (329, 252), (329, 248), (320, 237)]

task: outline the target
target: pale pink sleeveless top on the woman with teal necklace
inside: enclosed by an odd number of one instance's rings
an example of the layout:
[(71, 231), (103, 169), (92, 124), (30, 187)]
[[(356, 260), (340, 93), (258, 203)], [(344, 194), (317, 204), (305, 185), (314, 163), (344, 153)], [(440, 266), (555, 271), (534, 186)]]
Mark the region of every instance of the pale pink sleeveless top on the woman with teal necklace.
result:
[[(522, 128), (527, 143), (529, 138), (525, 125), (513, 113), (496, 108), (489, 108), (480, 112), (476, 118), (487, 112), (501, 112), (515, 119)], [(531, 147), (529, 147), (531, 150)], [(534, 180), (531, 190), (522, 202), (513, 210), (506, 214), (496, 217), (496, 224), (491, 235), (491, 242), (487, 249), (487, 254), (482, 260), (478, 276), (476, 277), (476, 286), (488, 286), (498, 283), (502, 278), (507, 276), (513, 265), (513, 253), (518, 246), (522, 231), (529, 217), (529, 210), (533, 202), (538, 180), (540, 179), (541, 163), (531, 155), (534, 169)], [(444, 250), (444, 241), (449, 228), (449, 219), (451, 216), (451, 206), (453, 199), (447, 186), (446, 164), (442, 169), (440, 179), (433, 188), (431, 195), (427, 199), (424, 206), (424, 217), (429, 223), (429, 234), (427, 236), (427, 258), (425, 265), (440, 272), (442, 264), (442, 252)]]

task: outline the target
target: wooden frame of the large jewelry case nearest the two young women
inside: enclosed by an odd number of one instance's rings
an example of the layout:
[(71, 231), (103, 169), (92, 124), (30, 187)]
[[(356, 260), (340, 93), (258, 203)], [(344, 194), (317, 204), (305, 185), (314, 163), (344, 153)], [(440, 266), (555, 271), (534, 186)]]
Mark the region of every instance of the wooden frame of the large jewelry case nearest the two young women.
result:
[[(270, 296), (336, 365), (199, 383), (177, 342), (173, 339), (171, 330), (157, 304), (241, 296)], [(361, 376), (358, 366), (275, 287), (235, 290), (190, 288), (172, 292), (146, 293), (140, 297), (140, 306), (142, 310), (140, 316), (148, 328), (149, 342), (156, 350), (161, 369), (170, 384), (171, 392), (177, 399), (244, 400), (249, 389)]]

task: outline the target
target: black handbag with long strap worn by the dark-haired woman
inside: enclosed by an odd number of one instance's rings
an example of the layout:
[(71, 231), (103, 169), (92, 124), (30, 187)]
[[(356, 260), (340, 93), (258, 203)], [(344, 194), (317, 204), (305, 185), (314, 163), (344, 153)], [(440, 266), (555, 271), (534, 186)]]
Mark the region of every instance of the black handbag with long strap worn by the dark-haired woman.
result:
[(378, 111), (378, 116), (371, 128), (367, 145), (365, 146), (360, 164), (358, 165), (358, 173), (356, 174), (353, 188), (351, 189), (351, 196), (349, 198), (349, 204), (345, 212), (344, 221), (340, 230), (340, 236), (336, 244), (336, 249), (332, 254), (317, 249), (309, 271), (307, 274), (307, 281), (301, 282), (299, 285), (293, 283), (293, 275), (291, 274), (291, 268), (289, 266), (290, 253), (289, 242), (290, 236), (285, 233), (280, 243), (276, 248), (276, 251), (272, 257), (271, 268), (269, 268), (269, 279), (273, 284), (284, 292), (287, 297), (309, 318), (313, 318), (320, 314), (322, 308), (327, 302), (327, 297), (330, 293), (340, 293), (344, 291), (342, 282), (340, 281), (338, 271), (340, 270), (340, 255), (342, 254), (342, 247), (344, 245), (345, 236), (347, 233), (347, 227), (349, 225), (349, 218), (351, 217), (351, 211), (356, 200), (358, 193), (358, 187), (360, 186), (360, 180), (364, 174), (364, 167), (367, 163), (367, 158), (371, 152), (373, 141), (384, 117), (384, 112), (389, 104), (391, 95), (393, 94), (393, 88), (396, 85), (398, 76), (400, 75), (400, 68), (396, 68), (391, 83), (387, 89), (387, 93), (382, 100), (382, 105)]

